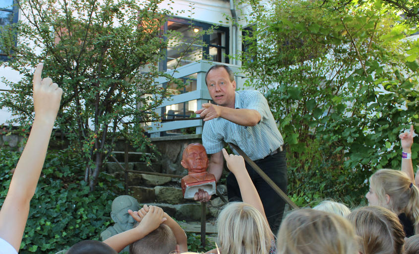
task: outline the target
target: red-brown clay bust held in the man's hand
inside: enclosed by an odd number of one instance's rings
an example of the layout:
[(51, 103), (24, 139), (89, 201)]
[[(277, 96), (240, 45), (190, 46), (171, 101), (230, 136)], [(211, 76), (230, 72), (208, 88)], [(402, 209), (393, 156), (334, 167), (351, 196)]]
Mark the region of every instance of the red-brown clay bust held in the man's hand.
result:
[(199, 189), (212, 195), (215, 193), (215, 176), (207, 172), (208, 157), (202, 144), (193, 143), (185, 147), (180, 164), (188, 170), (182, 178), (184, 198), (193, 198)]

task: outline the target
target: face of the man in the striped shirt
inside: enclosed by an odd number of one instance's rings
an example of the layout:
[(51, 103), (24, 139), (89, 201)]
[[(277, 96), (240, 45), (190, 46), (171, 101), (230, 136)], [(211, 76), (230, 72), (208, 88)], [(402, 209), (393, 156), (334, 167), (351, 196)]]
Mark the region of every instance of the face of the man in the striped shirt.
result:
[(211, 99), (217, 105), (234, 108), (236, 81), (230, 81), (229, 73), (225, 68), (210, 70), (206, 82)]

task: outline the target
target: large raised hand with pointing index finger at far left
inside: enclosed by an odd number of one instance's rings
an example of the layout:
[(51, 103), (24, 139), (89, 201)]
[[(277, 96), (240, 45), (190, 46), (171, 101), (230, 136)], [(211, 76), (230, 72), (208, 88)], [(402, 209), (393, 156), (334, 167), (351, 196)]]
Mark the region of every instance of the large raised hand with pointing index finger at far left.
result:
[(50, 77), (41, 78), (43, 67), (43, 63), (38, 64), (33, 75), (35, 119), (54, 122), (60, 108), (62, 89)]

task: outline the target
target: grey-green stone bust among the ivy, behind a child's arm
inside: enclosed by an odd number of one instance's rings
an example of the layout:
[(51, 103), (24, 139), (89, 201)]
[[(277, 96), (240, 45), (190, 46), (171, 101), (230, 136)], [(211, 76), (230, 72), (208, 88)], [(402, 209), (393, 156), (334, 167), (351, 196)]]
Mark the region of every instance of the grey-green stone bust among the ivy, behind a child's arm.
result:
[[(111, 218), (115, 224), (100, 234), (102, 241), (134, 227), (136, 221), (129, 215), (128, 209), (132, 211), (140, 209), (137, 199), (129, 195), (121, 195), (112, 201)], [(123, 251), (129, 252), (129, 246)]]

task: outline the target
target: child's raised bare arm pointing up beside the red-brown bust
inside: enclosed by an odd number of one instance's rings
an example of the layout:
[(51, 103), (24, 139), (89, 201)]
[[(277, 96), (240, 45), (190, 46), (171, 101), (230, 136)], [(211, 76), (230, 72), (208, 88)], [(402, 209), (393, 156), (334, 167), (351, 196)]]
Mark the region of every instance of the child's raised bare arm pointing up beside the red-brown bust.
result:
[(259, 193), (257, 193), (256, 187), (254, 187), (249, 173), (247, 173), (243, 157), (234, 154), (229, 155), (224, 148), (223, 155), (226, 159), (227, 167), (234, 174), (237, 182), (239, 183), (240, 194), (243, 202), (253, 205), (260, 213), (262, 213), (265, 222), (269, 225)]

